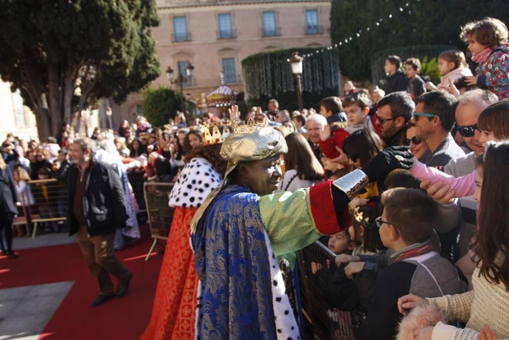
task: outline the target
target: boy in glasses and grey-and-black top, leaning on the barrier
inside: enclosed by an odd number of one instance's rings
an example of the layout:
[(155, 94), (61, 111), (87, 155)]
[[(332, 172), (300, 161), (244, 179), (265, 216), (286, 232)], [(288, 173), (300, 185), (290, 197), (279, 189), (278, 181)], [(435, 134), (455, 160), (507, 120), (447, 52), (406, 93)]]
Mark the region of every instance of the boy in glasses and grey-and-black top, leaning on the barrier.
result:
[[(431, 234), (437, 203), (421, 190), (396, 188), (383, 193), (382, 216), (376, 219), (380, 239), (391, 251), (380, 271), (360, 339), (393, 339), (400, 317), (398, 298), (414, 292), (438, 297), (461, 293), (456, 268), (433, 250)], [(376, 255), (351, 260), (377, 260)], [(336, 260), (337, 261), (337, 260)]]

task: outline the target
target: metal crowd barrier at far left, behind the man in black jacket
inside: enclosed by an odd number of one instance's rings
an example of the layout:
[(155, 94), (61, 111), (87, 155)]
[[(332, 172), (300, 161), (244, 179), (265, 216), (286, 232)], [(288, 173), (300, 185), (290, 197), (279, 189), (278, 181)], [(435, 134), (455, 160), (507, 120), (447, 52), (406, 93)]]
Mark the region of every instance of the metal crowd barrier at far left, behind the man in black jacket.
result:
[[(41, 223), (56, 229), (58, 223), (66, 220), (67, 188), (56, 179), (40, 179), (27, 182), (27, 188), (21, 195), (21, 205), (26, 225), (33, 223), (32, 238)], [(21, 223), (16, 221), (16, 223)], [(29, 230), (27, 228), (27, 234)]]

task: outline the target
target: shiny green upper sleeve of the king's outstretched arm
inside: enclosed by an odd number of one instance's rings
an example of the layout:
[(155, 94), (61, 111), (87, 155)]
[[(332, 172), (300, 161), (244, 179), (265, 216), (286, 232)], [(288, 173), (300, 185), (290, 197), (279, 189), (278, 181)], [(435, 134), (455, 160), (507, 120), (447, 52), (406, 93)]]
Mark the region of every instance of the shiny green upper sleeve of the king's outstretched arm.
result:
[(276, 255), (302, 249), (323, 236), (310, 213), (309, 189), (261, 197), (260, 215)]

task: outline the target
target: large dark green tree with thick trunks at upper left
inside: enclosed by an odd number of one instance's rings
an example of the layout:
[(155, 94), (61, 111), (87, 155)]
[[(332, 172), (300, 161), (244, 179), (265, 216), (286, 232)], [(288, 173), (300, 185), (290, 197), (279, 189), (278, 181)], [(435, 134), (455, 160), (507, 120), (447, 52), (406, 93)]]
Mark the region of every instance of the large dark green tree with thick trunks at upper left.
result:
[(0, 21), (0, 75), (20, 89), (40, 138), (97, 98), (124, 101), (160, 72), (155, 0), (0, 0)]

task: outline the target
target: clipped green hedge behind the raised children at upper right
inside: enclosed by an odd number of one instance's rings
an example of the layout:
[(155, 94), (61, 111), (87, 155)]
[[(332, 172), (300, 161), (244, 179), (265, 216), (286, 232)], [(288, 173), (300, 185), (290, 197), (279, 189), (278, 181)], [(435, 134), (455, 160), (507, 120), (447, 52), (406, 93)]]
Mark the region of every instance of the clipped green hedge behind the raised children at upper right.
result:
[[(383, 65), (385, 63), (385, 58), (390, 55), (396, 55), (401, 58), (402, 67), (404, 67), (404, 62), (408, 58), (419, 58), (422, 62), (425, 58), (431, 61), (433, 58), (438, 58), (438, 55), (447, 50), (447, 49), (457, 49), (454, 46), (450, 45), (423, 45), (423, 46), (405, 46), (405, 47), (393, 47), (378, 51), (371, 58), (371, 75), (372, 82), (380, 86), (380, 80), (386, 78), (385, 71), (383, 69)], [(429, 74), (428, 74), (429, 73)], [(421, 73), (422, 75), (430, 75), (433, 82), (440, 82), (440, 79), (436, 79), (436, 70), (432, 69), (428, 71), (426, 74)]]

